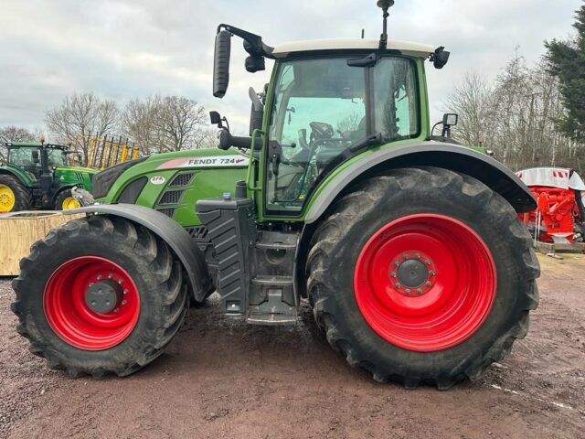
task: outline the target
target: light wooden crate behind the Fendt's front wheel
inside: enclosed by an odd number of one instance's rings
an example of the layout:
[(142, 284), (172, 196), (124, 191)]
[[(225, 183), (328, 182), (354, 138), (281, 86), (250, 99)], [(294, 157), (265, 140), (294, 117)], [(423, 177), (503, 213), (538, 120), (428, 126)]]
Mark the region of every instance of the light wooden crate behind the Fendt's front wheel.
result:
[(18, 275), (18, 262), (27, 256), (35, 241), (44, 238), (48, 230), (82, 216), (63, 215), (61, 212), (48, 210), (0, 215), (0, 276)]

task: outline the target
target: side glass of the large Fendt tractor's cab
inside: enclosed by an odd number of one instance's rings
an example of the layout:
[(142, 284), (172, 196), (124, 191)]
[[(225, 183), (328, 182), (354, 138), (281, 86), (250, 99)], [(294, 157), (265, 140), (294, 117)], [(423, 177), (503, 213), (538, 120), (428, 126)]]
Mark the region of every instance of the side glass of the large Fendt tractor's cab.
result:
[(300, 211), (351, 145), (374, 133), (385, 142), (415, 137), (419, 113), (410, 59), (382, 58), (371, 68), (350, 67), (347, 58), (282, 62), (269, 130), (267, 208)]

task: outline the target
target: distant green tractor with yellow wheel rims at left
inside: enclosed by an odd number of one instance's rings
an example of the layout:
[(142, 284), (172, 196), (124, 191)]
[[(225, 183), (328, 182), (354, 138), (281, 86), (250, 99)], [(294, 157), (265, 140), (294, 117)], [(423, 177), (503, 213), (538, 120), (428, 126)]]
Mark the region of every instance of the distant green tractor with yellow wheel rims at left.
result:
[[(90, 203), (91, 179), (98, 171), (70, 166), (69, 146), (44, 142), (5, 144), (0, 166), (0, 213), (40, 209), (76, 209), (80, 197)], [(76, 198), (77, 197), (77, 198)]]

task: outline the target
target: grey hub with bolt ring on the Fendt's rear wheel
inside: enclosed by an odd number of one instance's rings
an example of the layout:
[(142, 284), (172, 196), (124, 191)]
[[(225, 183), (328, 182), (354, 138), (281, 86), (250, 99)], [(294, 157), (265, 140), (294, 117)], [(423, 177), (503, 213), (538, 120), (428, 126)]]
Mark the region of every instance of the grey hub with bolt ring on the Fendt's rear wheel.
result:
[(434, 263), (420, 252), (406, 252), (396, 258), (392, 262), (390, 277), (394, 288), (406, 295), (425, 294), (436, 281)]

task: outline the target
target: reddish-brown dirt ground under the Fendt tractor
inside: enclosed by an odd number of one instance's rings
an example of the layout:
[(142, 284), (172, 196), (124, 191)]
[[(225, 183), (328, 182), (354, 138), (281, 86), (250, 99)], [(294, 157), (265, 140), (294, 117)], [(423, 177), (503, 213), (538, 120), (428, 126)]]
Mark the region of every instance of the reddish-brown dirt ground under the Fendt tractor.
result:
[(50, 371), (16, 335), (0, 279), (0, 437), (582, 438), (585, 256), (540, 257), (540, 306), (503, 364), (450, 391), (351, 369), (315, 329), (192, 310), (165, 355), (126, 379)]

